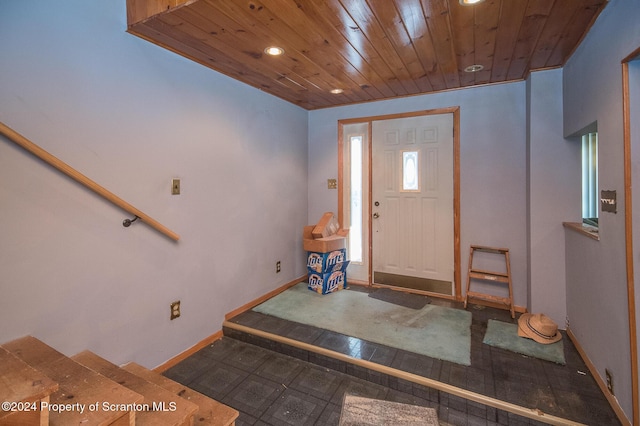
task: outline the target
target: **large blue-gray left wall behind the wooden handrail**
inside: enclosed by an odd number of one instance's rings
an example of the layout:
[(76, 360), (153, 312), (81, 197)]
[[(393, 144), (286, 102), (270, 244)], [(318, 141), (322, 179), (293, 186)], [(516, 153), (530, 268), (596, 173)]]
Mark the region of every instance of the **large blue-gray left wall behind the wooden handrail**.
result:
[(155, 367), (305, 274), (307, 112), (125, 30), (124, 0), (0, 2), (0, 121), (181, 239), (0, 137), (0, 342)]

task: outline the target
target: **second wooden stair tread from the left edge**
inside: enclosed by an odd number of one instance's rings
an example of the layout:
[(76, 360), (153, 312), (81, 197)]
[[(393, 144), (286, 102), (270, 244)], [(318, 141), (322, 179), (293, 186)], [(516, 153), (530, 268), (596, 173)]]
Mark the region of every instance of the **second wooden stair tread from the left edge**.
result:
[(65, 412), (50, 411), (51, 425), (111, 425), (133, 424), (135, 412), (122, 410), (89, 410), (91, 404), (108, 402), (124, 408), (140, 404), (142, 396), (88, 369), (44, 342), (26, 336), (2, 345), (25, 363), (58, 382), (51, 394), (51, 404), (77, 404), (80, 409)]

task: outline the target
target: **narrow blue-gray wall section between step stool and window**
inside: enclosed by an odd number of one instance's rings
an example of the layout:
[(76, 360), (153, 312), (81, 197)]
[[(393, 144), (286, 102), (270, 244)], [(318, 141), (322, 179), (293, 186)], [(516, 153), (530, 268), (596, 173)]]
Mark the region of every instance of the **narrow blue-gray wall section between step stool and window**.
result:
[(527, 80), (528, 305), (566, 322), (564, 229), (580, 221), (580, 144), (562, 137), (562, 70)]

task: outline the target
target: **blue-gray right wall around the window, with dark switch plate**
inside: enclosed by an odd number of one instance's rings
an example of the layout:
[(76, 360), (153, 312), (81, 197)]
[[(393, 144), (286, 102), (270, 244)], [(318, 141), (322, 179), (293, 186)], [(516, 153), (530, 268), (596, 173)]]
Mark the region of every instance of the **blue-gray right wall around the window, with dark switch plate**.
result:
[[(599, 241), (566, 233), (567, 312), (571, 329), (601, 377), (605, 369), (612, 372), (616, 397), (628, 417), (632, 401), (621, 61), (640, 47), (638, 22), (640, 2), (611, 1), (563, 71), (564, 134), (598, 123), (599, 188), (618, 195), (617, 214), (600, 212)], [(639, 226), (634, 224), (636, 232)]]

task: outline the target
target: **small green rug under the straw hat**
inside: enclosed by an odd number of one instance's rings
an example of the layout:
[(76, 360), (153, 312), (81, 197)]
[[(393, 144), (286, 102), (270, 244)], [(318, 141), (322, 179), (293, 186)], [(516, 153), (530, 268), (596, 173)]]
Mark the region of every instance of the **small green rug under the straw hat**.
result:
[(526, 337), (520, 337), (518, 336), (518, 324), (489, 320), (482, 343), (556, 364), (566, 364), (562, 340), (550, 345), (543, 345)]

